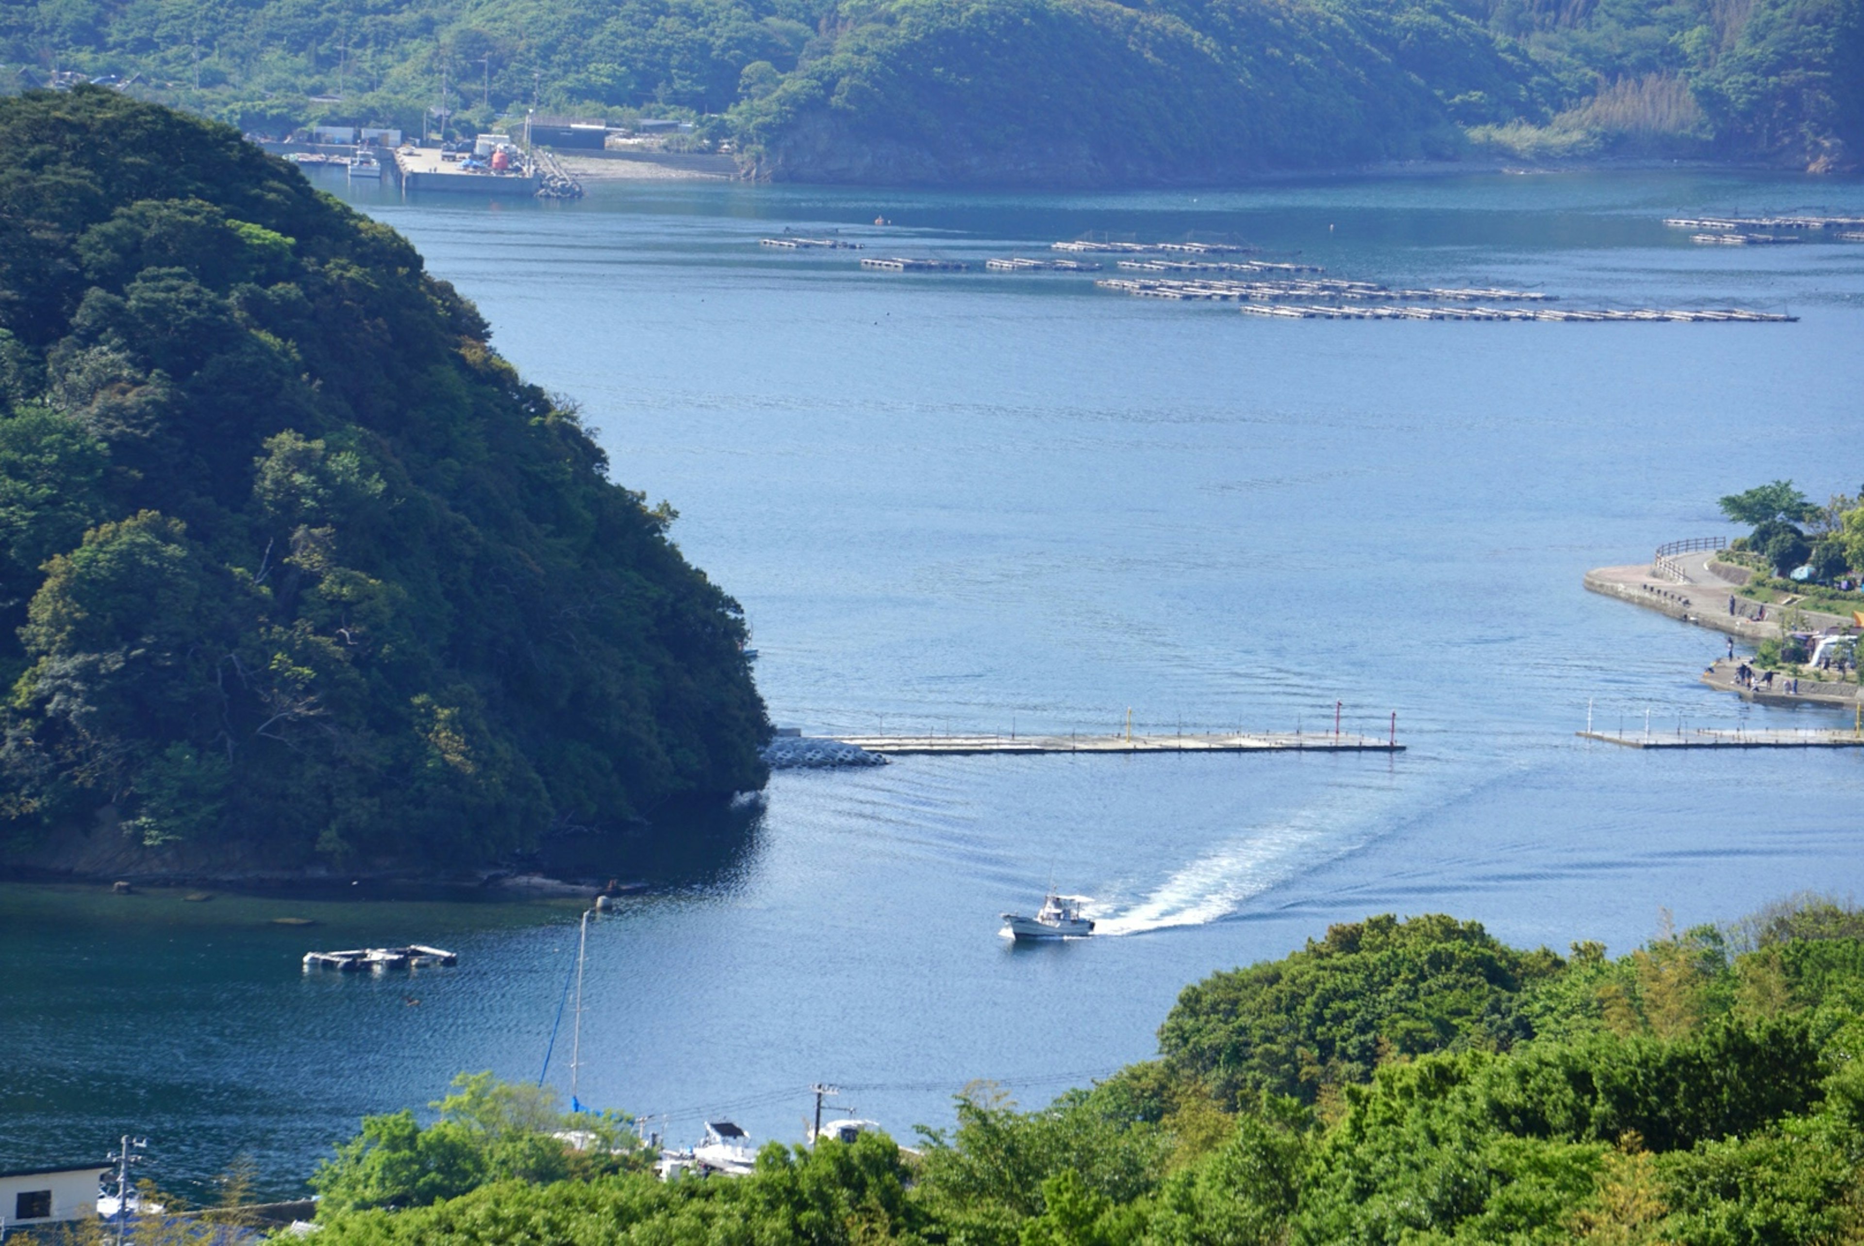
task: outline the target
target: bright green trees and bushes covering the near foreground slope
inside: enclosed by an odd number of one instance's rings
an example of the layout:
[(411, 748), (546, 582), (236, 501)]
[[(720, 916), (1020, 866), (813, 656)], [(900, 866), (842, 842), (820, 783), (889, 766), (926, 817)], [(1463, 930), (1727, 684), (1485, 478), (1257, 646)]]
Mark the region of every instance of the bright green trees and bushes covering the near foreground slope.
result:
[[(1799, 899), (1618, 959), (1336, 925), (1186, 989), (1161, 1058), (923, 1155), (770, 1143), (662, 1184), (613, 1117), (462, 1078), (319, 1170), (319, 1240), (563, 1246), (1812, 1246), (1864, 1233), (1864, 916)], [(608, 1130), (565, 1153), (550, 1130)]]

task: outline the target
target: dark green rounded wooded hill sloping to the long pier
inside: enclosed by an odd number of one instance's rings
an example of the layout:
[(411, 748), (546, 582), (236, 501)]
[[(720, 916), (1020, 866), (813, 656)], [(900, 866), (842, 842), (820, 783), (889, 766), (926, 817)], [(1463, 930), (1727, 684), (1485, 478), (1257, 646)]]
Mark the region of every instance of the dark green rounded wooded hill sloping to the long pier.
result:
[(736, 602), (487, 338), (227, 127), (0, 101), (0, 862), (468, 865), (762, 783)]

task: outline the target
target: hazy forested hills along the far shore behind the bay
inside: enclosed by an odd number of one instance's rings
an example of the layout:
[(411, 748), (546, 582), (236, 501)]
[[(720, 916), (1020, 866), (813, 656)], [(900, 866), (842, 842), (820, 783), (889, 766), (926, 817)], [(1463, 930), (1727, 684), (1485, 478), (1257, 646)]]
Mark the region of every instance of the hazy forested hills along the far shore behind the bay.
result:
[(1394, 159), (1864, 159), (1864, 0), (24, 0), (52, 71), (246, 129), (697, 119), (770, 177), (1227, 183)]

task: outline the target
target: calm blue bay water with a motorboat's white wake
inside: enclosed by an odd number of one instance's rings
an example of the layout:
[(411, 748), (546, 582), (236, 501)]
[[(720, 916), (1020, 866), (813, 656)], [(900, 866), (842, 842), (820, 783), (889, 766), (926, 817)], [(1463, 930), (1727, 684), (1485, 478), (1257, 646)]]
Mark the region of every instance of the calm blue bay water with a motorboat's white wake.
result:
[[(1691, 246), (1666, 215), (1864, 215), (1864, 185), (1571, 173), (982, 196), (598, 185), (570, 205), (334, 190), (406, 233), (755, 629), (807, 731), (1396, 729), (1387, 755), (936, 757), (777, 774), (589, 933), (578, 1095), (802, 1138), (815, 1080), (897, 1134), (1001, 1080), (1143, 1059), (1178, 990), (1329, 921), (1452, 912), (1517, 944), (1860, 890), (1864, 752), (1638, 754), (1605, 727), (1840, 726), (1696, 685), (1717, 634), (1588, 595), (1734, 535), (1715, 498), (1857, 491), (1864, 244)], [(876, 228), (876, 215), (893, 226)], [(869, 250), (759, 248), (781, 229)], [(859, 256), (1247, 239), (1329, 276), (1538, 287), (1797, 325), (1277, 323), (1087, 276)], [(1046, 884), (1105, 938), (1014, 948)], [(190, 1186), (298, 1186), (363, 1112), (537, 1078), (574, 903), (186, 901), (0, 886), (0, 1168), (151, 1140)], [(311, 927), (278, 925), (304, 918)], [(432, 942), (455, 970), (304, 976)], [(567, 1026), (567, 1022), (565, 1022)], [(567, 1089), (567, 1033), (550, 1080)]]

